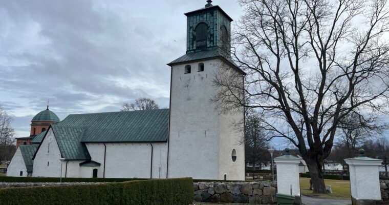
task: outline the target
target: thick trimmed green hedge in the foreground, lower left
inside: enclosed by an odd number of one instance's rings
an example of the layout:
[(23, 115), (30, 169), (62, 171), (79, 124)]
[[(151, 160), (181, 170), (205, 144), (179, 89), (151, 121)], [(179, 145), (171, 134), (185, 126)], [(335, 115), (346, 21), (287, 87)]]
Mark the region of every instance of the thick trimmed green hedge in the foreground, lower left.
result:
[(104, 185), (0, 189), (0, 204), (187, 205), (192, 201), (192, 178), (136, 180)]

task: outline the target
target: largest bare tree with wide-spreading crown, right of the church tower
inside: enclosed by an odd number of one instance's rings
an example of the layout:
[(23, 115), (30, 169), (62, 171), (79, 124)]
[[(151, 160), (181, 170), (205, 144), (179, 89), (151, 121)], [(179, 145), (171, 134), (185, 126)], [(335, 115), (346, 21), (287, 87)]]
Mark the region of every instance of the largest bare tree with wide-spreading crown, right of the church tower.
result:
[[(314, 192), (325, 193), (321, 169), (340, 119), (356, 109), (387, 107), (387, 2), (239, 2), (245, 14), (233, 34), (232, 58), (247, 73), (245, 86), (236, 76), (217, 76), (215, 100), (227, 110), (246, 105), (265, 111), (265, 129), (298, 148)], [(242, 88), (245, 97), (231, 96)]]

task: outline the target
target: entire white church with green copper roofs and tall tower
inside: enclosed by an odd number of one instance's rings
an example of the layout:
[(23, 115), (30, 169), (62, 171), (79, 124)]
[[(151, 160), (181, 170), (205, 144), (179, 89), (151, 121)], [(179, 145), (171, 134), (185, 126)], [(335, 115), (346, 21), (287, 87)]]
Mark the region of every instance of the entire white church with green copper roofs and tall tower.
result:
[[(31, 145), (18, 146), (7, 176), (245, 180), (244, 131), (232, 126), (243, 122), (244, 108), (222, 114), (211, 103), (221, 89), (214, 76), (225, 66), (237, 80), (245, 73), (230, 57), (232, 19), (211, 2), (185, 13), (187, 51), (168, 64), (170, 109), (52, 121), (47, 130), (34, 130)], [(42, 112), (48, 114), (34, 118), (54, 114)]]

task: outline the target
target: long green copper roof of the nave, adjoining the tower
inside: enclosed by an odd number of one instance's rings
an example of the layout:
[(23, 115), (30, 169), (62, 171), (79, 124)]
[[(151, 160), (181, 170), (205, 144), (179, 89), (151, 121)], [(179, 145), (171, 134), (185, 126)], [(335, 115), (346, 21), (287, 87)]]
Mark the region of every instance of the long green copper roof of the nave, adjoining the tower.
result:
[(83, 128), (81, 142), (165, 142), (169, 109), (69, 115), (59, 126)]

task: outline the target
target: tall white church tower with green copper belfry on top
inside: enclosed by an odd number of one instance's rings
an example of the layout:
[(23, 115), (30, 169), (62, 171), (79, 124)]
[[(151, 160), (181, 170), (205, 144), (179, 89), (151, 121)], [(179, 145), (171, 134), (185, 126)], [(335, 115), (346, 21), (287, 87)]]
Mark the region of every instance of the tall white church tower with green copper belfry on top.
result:
[(245, 73), (231, 60), (232, 18), (208, 0), (187, 16), (186, 54), (171, 61), (167, 178), (245, 180), (244, 109), (222, 114), (211, 103), (220, 87), (215, 76)]

